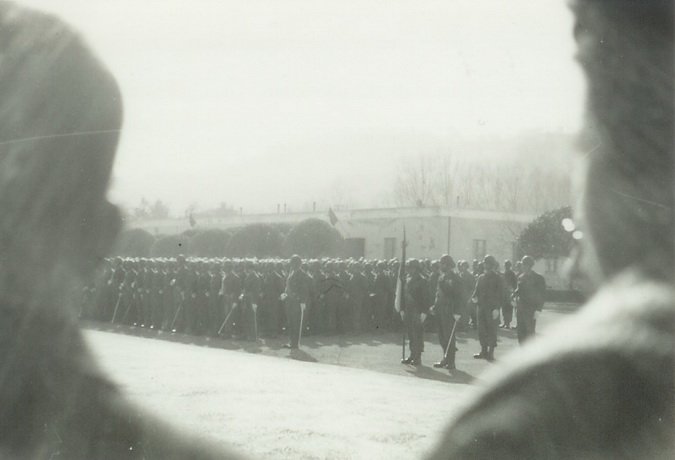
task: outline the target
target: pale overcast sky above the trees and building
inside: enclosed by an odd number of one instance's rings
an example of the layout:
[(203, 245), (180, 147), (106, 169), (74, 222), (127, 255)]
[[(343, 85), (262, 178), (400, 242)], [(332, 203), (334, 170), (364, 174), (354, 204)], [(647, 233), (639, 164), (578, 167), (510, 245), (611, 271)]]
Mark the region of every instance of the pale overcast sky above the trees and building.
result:
[(75, 25), (117, 76), (126, 206), (372, 206), (401, 157), (579, 126), (564, 0), (23, 3)]

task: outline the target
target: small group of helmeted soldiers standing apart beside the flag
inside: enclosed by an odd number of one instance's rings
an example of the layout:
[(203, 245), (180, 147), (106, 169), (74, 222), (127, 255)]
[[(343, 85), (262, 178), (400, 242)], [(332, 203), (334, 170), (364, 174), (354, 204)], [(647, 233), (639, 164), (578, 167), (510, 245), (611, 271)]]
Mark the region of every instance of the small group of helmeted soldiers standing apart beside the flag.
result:
[[(407, 264), (408, 276), (402, 291), (405, 295), (400, 296), (402, 301), (396, 304), (410, 349), (409, 357), (401, 359), (402, 364), (421, 364), (424, 328), (429, 317), (435, 318), (431, 324), (436, 328), (443, 350), (443, 359), (434, 367), (450, 370), (455, 369), (455, 338), (463, 317), (471, 317), (478, 329), (481, 351), (473, 355), (476, 359), (494, 360), (500, 318), (503, 319), (501, 327), (510, 328), (514, 302), (518, 341), (522, 343), (534, 334), (536, 318), (544, 305), (546, 283), (544, 277), (533, 270), (531, 257), (525, 256), (517, 264), (518, 273), (511, 270), (510, 261), (505, 262), (504, 272), (500, 273), (499, 264), (491, 255), (486, 255), (473, 273), (468, 272), (465, 261), (456, 266), (447, 254), (440, 258), (438, 266), (438, 271), (425, 277), (418, 260), (411, 259)], [(468, 301), (467, 293), (470, 293)]]

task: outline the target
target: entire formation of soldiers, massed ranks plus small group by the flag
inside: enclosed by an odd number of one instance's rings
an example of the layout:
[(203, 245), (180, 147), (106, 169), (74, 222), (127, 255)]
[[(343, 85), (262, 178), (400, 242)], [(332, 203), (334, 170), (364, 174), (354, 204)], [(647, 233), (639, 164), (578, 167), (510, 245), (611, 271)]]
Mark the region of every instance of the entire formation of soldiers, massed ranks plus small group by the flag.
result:
[[(540, 275), (531, 270), (532, 259), (516, 264), (526, 267), (517, 281), (511, 280), (518, 275), (510, 270), (510, 261), (501, 274), (493, 259), (474, 261), (475, 273), (468, 261), (456, 266), (449, 255), (437, 261), (408, 260), (408, 311), (414, 313), (405, 317), (394, 314), (399, 268), (395, 259), (115, 257), (105, 261), (99, 277), (84, 289), (80, 312), (85, 319), (210, 337), (253, 341), (287, 335), (291, 348), (307, 335), (405, 330), (411, 347), (407, 364), (421, 361), (423, 333), (436, 331), (443, 348), (443, 359), (436, 364), (452, 369), (455, 335), (466, 330), (472, 316), (486, 347), (494, 350), (491, 322), (497, 319), (488, 323), (486, 308), (490, 315), (501, 310), (503, 324), (510, 325), (508, 305), (513, 299), (519, 337), (534, 329), (543, 292)], [(491, 289), (504, 292), (487, 297), (501, 299), (497, 304), (485, 305), (487, 281), (479, 288), (481, 276), (500, 279)], [(538, 294), (532, 294), (534, 285)], [(492, 354), (486, 348), (479, 356), (491, 359)]]

